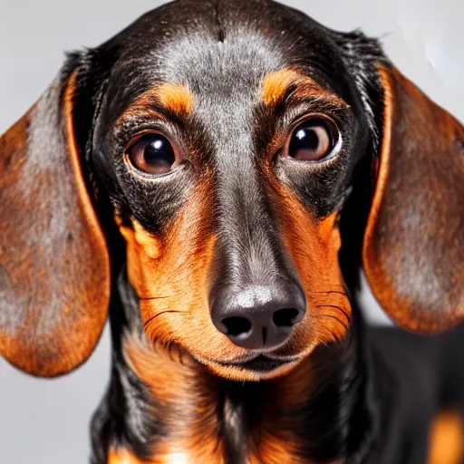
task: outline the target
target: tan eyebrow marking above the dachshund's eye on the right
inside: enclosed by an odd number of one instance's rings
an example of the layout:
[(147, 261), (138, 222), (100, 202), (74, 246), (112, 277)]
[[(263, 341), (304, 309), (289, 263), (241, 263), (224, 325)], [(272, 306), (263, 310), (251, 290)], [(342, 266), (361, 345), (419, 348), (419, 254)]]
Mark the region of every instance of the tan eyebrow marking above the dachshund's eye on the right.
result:
[(347, 107), (339, 96), (327, 91), (310, 77), (294, 68), (286, 68), (266, 74), (261, 85), (261, 100), (266, 105), (284, 102), (288, 94), (296, 98), (324, 98), (337, 106)]

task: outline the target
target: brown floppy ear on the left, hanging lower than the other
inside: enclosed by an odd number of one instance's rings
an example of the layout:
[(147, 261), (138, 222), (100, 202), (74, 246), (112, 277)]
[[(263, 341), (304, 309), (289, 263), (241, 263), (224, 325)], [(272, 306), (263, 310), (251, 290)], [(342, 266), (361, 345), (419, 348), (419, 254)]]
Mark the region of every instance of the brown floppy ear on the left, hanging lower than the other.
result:
[(76, 74), (57, 78), (0, 139), (0, 353), (43, 377), (90, 356), (110, 298), (74, 137)]

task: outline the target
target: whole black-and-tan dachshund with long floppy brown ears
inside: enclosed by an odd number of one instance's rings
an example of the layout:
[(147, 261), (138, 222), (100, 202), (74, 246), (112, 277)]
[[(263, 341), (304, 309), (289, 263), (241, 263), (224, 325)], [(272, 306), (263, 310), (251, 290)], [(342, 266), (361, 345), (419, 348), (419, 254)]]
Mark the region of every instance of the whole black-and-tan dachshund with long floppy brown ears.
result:
[(464, 130), (377, 40), (176, 0), (0, 153), (0, 353), (62, 375), (109, 316), (92, 464), (461, 462)]

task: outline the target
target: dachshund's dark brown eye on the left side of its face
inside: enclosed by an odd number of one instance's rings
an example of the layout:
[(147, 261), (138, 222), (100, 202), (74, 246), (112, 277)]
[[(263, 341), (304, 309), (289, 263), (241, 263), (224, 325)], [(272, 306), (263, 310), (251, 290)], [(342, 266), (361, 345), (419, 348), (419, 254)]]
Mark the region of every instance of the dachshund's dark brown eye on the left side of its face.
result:
[(179, 165), (179, 154), (167, 137), (150, 133), (140, 137), (126, 151), (134, 168), (148, 174), (165, 174)]

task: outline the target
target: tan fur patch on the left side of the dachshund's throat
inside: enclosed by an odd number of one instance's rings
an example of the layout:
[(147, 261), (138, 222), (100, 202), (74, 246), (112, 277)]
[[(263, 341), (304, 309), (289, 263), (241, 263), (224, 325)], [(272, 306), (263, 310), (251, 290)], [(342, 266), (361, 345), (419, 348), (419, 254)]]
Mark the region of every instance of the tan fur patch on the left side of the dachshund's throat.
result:
[(218, 418), (218, 378), (187, 353), (156, 350), (127, 339), (131, 369), (160, 404), (169, 435), (152, 450), (153, 463), (221, 464), (224, 448)]

